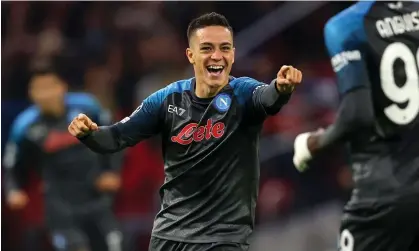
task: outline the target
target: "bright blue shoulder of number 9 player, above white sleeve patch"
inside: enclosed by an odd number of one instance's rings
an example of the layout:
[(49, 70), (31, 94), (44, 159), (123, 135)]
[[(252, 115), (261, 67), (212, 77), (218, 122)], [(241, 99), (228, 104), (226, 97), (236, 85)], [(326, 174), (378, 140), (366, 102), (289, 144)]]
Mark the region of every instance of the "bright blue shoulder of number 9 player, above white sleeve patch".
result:
[(329, 50), (339, 50), (348, 41), (365, 41), (364, 17), (373, 4), (358, 2), (329, 19), (324, 27)]

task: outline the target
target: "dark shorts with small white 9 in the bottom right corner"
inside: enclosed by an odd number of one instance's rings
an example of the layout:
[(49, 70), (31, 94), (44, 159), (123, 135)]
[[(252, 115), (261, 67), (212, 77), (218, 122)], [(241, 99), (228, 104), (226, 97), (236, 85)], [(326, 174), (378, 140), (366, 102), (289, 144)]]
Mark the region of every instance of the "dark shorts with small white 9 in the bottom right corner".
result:
[(339, 251), (419, 251), (418, 201), (345, 209)]

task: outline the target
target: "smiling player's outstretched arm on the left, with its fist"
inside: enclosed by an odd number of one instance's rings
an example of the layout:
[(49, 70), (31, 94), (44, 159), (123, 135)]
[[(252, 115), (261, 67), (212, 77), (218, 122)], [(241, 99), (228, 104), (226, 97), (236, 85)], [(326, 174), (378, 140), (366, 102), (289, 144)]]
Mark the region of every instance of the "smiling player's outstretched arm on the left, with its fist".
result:
[(95, 152), (118, 152), (160, 132), (161, 103), (160, 94), (156, 92), (145, 99), (130, 117), (110, 126), (98, 127), (89, 117), (79, 114), (68, 130)]

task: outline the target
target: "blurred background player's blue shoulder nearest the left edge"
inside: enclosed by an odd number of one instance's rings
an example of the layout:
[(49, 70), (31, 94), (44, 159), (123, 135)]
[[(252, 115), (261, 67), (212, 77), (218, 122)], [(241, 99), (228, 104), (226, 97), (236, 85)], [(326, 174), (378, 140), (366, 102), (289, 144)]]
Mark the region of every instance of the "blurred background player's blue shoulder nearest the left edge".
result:
[(15, 142), (20, 141), (26, 130), (37, 121), (39, 114), (39, 109), (35, 105), (19, 113), (12, 124), (10, 139)]

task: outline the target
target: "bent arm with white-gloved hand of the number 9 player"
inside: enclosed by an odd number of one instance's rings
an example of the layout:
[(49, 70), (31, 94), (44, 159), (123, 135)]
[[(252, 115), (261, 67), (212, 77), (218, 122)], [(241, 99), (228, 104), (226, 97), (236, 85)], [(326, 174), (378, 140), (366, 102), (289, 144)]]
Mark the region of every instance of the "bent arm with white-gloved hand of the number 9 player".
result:
[(318, 151), (346, 142), (360, 130), (374, 126), (370, 83), (362, 45), (356, 35), (349, 33), (344, 36), (341, 29), (343, 27), (336, 22), (328, 23), (325, 28), (326, 46), (332, 58), (341, 96), (337, 116), (326, 130), (297, 136), (294, 164), (300, 170), (306, 168), (306, 161)]

